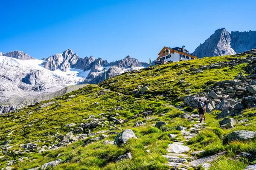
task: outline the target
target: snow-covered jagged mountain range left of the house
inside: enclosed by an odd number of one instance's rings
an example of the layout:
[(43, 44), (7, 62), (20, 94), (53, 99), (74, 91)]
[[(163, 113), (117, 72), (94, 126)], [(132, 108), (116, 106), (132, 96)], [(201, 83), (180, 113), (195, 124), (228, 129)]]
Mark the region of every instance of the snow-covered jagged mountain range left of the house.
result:
[(44, 59), (35, 59), (22, 51), (0, 53), (0, 113), (20, 108), (14, 105), (17, 100), (23, 106), (32, 101), (21, 98), (54, 93), (68, 85), (102, 82), (104, 68), (109, 78), (148, 66), (130, 56), (110, 63), (93, 56), (80, 58), (71, 49)]

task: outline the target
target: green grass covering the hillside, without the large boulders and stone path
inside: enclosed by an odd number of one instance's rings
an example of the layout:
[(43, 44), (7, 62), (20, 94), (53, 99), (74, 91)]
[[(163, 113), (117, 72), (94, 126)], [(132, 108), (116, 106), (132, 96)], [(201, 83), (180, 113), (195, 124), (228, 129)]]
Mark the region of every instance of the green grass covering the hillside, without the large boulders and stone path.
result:
[[(171, 167), (166, 165), (167, 159), (163, 155), (168, 153), (168, 145), (174, 142), (169, 134), (176, 134), (175, 140), (184, 142), (191, 149), (186, 153), (188, 161), (194, 159), (191, 157), (193, 151), (204, 150), (197, 158), (227, 151), (212, 162), (211, 169), (243, 170), (253, 164), (254, 159), (230, 158), (240, 152), (255, 154), (256, 142), (228, 142), (227, 135), (236, 130), (256, 131), (256, 116), (250, 114), (256, 113), (256, 109), (244, 110), (242, 115), (235, 116), (238, 121), (248, 118), (249, 122), (236, 124), (228, 130), (221, 129), (221, 119), (215, 118), (220, 111), (206, 114), (207, 119), (200, 132), (187, 140), (181, 134), (180, 126), (192, 132), (198, 124), (197, 111), (170, 105), (170, 102), (173, 105), (179, 102), (177, 97), (187, 95), (185, 89), (190, 88), (189, 92), (196, 94), (210, 85), (207, 84), (209, 80), (233, 79), (239, 72), (244, 73), (246, 64), (230, 65), (230, 62), (242, 57), (196, 59), (179, 62), (178, 67), (176, 63), (152, 66), (107, 79), (99, 86), (87, 85), (61, 97), (2, 115), (0, 168), (28, 170), (61, 159), (61, 163), (47, 169), (168, 170)], [(205, 68), (203, 73), (196, 73), (195, 69), (200, 66), (218, 62), (226, 66)], [(182, 78), (185, 78), (185, 86), (178, 83)], [(139, 91), (145, 85), (149, 85), (149, 91), (135, 94), (135, 89)], [(145, 116), (147, 113), (148, 116)], [(188, 119), (185, 113), (195, 119)], [(154, 127), (159, 121), (167, 125)], [(79, 131), (81, 123), (90, 122), (97, 122), (96, 127)], [(136, 122), (142, 125), (134, 127)], [(117, 134), (125, 129), (133, 130), (137, 139), (129, 139), (127, 144), (121, 146), (104, 142), (114, 141)], [(66, 138), (70, 138), (67, 143)], [(125, 153), (131, 153), (132, 158), (118, 160)]]

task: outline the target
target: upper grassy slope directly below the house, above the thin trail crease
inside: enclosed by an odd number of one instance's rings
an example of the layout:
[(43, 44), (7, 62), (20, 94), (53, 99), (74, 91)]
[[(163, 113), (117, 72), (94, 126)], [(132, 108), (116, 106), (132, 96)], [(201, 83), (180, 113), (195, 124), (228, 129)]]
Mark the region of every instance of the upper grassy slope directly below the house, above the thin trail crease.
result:
[[(229, 63), (242, 57), (244, 56), (205, 57), (178, 62), (180, 66), (176, 66), (176, 62), (151, 66), (140, 71), (127, 72), (107, 79), (101, 82), (99, 86), (123, 94), (140, 96), (140, 94), (135, 95), (136, 91), (148, 85), (150, 91), (144, 95), (146, 98), (151, 100), (173, 100), (173, 97), (186, 95), (186, 89), (191, 89), (189, 94), (204, 91), (209, 80), (217, 82), (234, 79), (239, 72), (244, 72), (247, 64), (231, 67)], [(226, 64), (226, 66), (202, 69), (204, 71), (202, 73), (196, 72), (201, 66), (219, 63)], [(186, 82), (179, 83), (180, 79), (184, 79)]]

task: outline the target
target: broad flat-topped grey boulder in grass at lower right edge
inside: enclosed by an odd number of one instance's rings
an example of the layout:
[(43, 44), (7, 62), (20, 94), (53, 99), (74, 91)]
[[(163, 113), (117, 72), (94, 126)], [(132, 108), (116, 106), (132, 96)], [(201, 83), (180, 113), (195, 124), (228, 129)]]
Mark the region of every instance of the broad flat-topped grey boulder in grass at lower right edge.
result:
[(256, 132), (248, 131), (248, 130), (239, 130), (234, 131), (228, 134), (228, 142), (239, 140), (239, 141), (247, 141), (249, 139), (254, 139), (256, 136)]

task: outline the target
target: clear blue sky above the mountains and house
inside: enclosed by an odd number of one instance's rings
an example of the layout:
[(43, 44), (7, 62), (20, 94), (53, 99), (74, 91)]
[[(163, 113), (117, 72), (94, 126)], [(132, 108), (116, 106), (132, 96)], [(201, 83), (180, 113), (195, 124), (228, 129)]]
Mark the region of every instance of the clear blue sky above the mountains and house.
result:
[(163, 46), (189, 52), (218, 28), (256, 30), (255, 0), (1, 0), (0, 51), (35, 58), (68, 48), (108, 62), (148, 62)]

